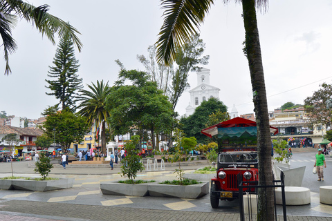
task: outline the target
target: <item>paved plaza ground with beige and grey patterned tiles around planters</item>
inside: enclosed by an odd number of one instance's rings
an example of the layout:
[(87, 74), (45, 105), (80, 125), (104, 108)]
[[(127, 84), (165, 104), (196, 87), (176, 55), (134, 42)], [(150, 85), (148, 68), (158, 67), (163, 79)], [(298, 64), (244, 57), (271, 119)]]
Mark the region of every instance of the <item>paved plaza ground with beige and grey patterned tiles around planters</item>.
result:
[[(15, 175), (38, 176), (34, 162), (13, 162)], [(184, 162), (185, 173), (208, 163)], [(160, 165), (159, 165), (160, 166)], [(165, 171), (138, 173), (141, 180), (173, 180), (174, 164)], [(0, 164), (0, 177), (10, 176), (10, 163)], [(239, 220), (239, 202), (221, 202), (212, 209), (210, 196), (196, 200), (182, 198), (129, 197), (102, 195), (100, 182), (124, 180), (120, 164), (111, 171), (108, 164), (71, 165), (67, 169), (55, 165), (50, 177), (75, 178), (71, 189), (48, 192), (0, 190), (0, 220)], [(328, 184), (326, 182), (326, 184)], [(277, 207), (278, 214), (281, 207)], [(332, 206), (320, 204), (319, 193), (311, 192), (311, 204), (287, 206), (288, 220), (332, 220)], [(279, 220), (283, 220), (279, 217)]]

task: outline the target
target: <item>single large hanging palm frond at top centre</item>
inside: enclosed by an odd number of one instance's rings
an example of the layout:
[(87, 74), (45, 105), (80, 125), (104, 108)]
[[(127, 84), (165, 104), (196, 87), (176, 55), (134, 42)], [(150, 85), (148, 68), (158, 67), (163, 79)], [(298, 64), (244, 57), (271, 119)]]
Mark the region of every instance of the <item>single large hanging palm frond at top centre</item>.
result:
[(164, 23), (156, 42), (157, 61), (167, 65), (175, 59), (176, 49), (196, 35), (213, 0), (164, 0)]

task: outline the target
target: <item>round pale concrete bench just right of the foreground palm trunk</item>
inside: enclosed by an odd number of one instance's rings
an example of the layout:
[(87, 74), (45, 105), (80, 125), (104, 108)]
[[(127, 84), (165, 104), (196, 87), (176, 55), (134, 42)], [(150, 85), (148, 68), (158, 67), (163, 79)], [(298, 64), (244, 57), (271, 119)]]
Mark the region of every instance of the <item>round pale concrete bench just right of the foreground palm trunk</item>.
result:
[[(300, 186), (285, 186), (286, 205), (306, 205), (310, 204), (310, 189)], [(276, 203), (282, 204), (282, 189), (275, 189)]]

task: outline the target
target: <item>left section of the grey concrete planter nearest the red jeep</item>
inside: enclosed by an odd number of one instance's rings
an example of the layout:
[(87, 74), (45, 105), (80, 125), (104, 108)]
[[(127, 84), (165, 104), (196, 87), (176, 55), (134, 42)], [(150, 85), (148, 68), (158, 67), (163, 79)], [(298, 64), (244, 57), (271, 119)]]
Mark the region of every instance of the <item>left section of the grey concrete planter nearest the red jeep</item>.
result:
[(107, 195), (131, 195), (131, 196), (146, 196), (149, 195), (147, 190), (148, 184), (122, 184), (120, 182), (100, 183), (100, 190), (102, 194)]

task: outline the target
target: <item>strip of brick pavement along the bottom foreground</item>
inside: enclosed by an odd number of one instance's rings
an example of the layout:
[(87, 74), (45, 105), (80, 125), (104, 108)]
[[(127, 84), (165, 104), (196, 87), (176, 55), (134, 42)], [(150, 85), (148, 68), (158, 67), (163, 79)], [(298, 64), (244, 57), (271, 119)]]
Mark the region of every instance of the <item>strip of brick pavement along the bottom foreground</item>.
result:
[[(24, 219), (23, 219), (23, 218)], [(240, 220), (239, 213), (165, 211), (160, 209), (138, 209), (121, 206), (91, 206), (55, 202), (25, 200), (0, 200), (0, 219), (4, 220)], [(283, 220), (278, 217), (278, 220)], [(289, 221), (330, 221), (331, 217), (293, 216)]]

